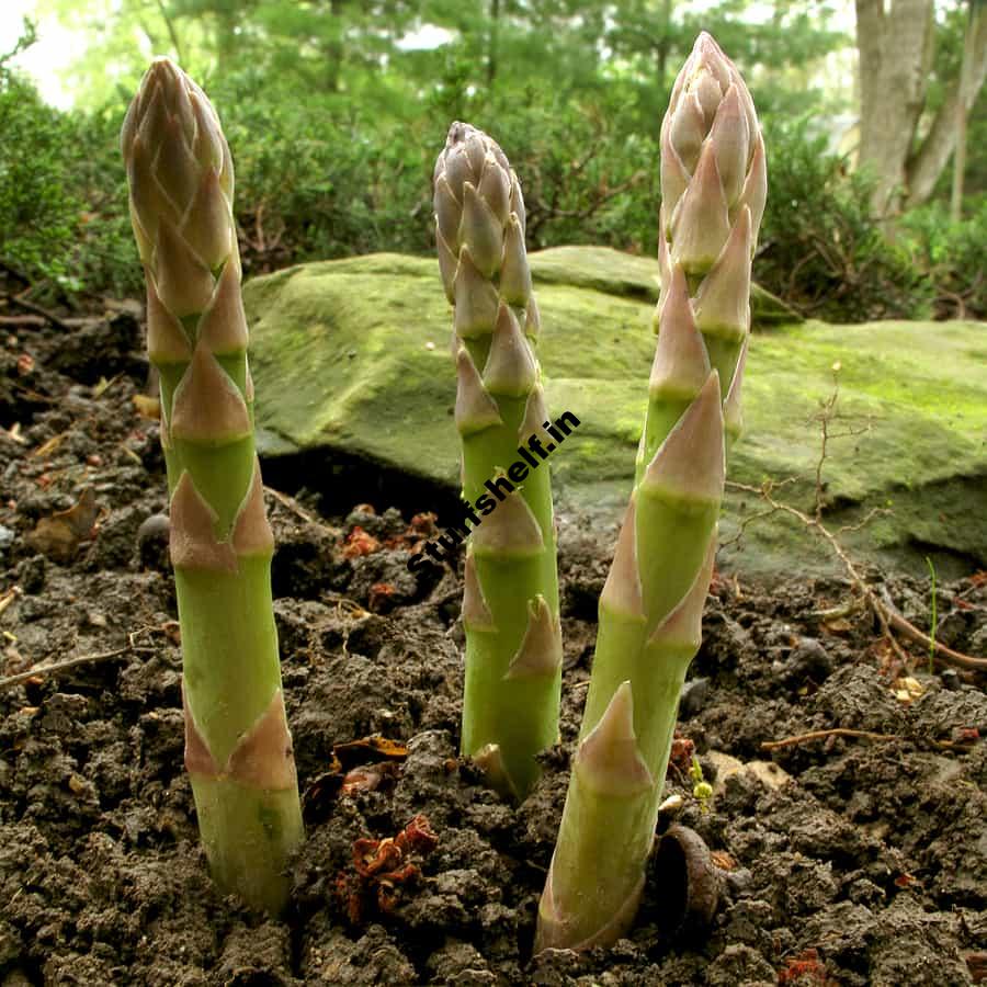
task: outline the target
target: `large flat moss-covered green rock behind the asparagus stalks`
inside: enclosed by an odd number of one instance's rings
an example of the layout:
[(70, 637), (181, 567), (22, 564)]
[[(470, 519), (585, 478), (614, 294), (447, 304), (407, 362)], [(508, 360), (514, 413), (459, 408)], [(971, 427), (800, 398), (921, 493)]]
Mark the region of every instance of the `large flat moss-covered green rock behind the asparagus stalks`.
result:
[[(640, 434), (657, 264), (595, 247), (545, 250), (531, 262), (549, 407), (580, 420), (552, 457), (557, 500), (612, 521), (626, 502)], [(305, 264), (252, 280), (245, 300), (264, 453), (324, 452), (373, 464), (382, 476), (456, 488), (450, 309), (434, 261), (373, 254)], [(847, 533), (848, 546), (908, 568), (924, 566), (930, 552), (946, 570), (950, 559), (954, 569), (987, 565), (985, 356), (987, 327), (977, 322), (806, 321), (756, 331), (730, 479), (784, 480), (779, 494), (812, 509), (818, 413), (838, 378), (825, 517), (840, 525), (892, 511)], [(383, 496), (402, 502), (400, 484)], [(761, 508), (757, 495), (731, 491), (724, 538)], [(807, 570), (828, 567), (813, 534), (782, 518), (751, 523), (740, 544), (722, 560), (745, 571), (791, 571), (794, 558)]]

